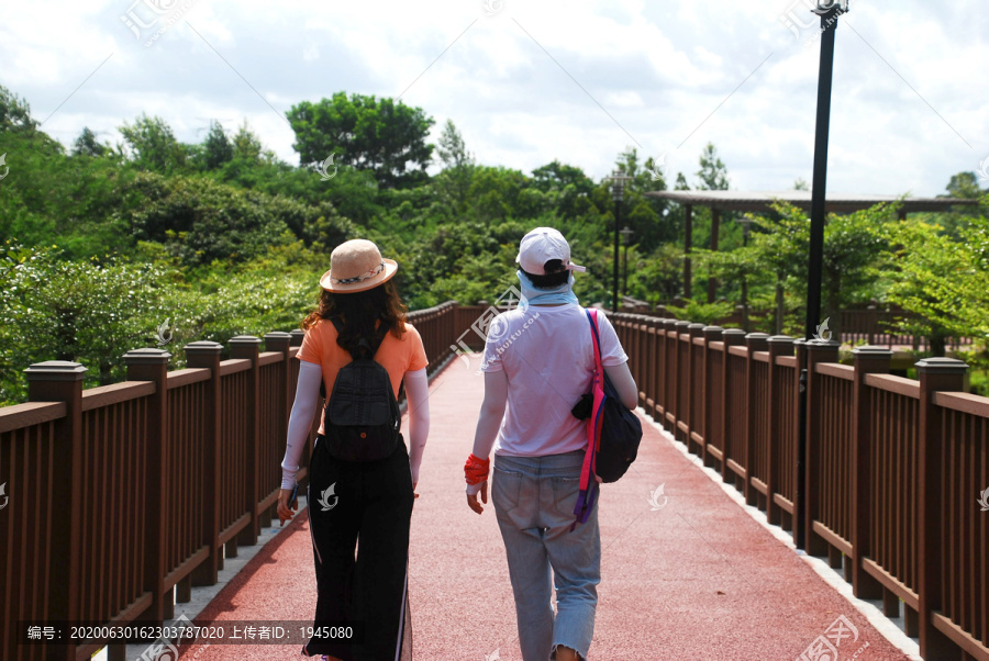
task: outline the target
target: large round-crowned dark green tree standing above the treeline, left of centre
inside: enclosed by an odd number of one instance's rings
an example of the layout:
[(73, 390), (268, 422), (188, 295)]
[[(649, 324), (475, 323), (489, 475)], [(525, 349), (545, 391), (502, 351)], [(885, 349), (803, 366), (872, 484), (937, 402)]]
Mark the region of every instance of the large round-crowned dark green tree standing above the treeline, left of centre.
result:
[(302, 101), (287, 113), (303, 165), (335, 163), (371, 170), (385, 188), (413, 186), (427, 179), (434, 124), (420, 108), (374, 96), (336, 92), (319, 103)]

